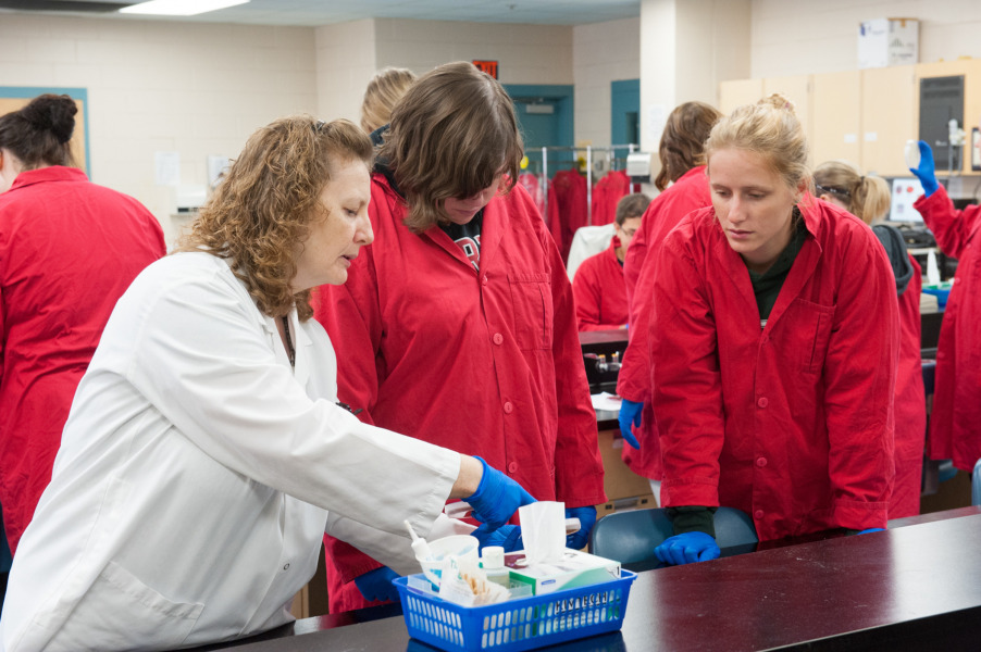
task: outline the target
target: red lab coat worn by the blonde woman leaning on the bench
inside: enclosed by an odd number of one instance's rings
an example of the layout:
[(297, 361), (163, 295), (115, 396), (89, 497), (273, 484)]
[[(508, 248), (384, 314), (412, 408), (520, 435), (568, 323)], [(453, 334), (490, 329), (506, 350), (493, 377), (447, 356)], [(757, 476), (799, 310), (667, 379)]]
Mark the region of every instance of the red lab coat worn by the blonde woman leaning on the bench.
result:
[(763, 329), (711, 208), (666, 238), (650, 325), (666, 506), (749, 513), (760, 540), (885, 527), (895, 279), (871, 229), (805, 199), (804, 242)]

